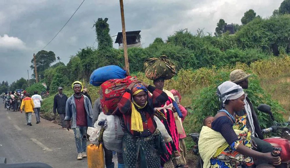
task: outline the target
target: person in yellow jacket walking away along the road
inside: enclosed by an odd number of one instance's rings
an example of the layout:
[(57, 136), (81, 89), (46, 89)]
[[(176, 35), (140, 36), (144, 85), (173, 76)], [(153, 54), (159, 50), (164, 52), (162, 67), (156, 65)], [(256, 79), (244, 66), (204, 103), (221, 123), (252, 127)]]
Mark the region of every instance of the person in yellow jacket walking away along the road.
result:
[(32, 126), (31, 124), (31, 115), (34, 109), (34, 103), (32, 98), (29, 97), (29, 93), (26, 93), (26, 97), (22, 99), (20, 112), (22, 113), (22, 109), (24, 107), (25, 117), (27, 121), (27, 125)]

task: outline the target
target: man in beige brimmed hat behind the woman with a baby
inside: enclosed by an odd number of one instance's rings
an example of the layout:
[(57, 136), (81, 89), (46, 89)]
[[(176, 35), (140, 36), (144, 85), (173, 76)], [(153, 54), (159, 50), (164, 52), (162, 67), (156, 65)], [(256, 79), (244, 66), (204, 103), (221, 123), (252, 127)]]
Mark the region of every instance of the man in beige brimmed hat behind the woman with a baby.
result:
[[(251, 76), (251, 74), (246, 74), (243, 70), (233, 70), (230, 73), (230, 81), (233, 83), (236, 83), (237, 85), (240, 85), (243, 89), (248, 89), (249, 87), (249, 81), (248, 78)], [(247, 114), (247, 123), (246, 126), (248, 128), (248, 130), (252, 131), (252, 140), (254, 140), (253, 144), (254, 146), (256, 146), (257, 151), (262, 152), (262, 153), (268, 153), (268, 152), (272, 152), (273, 147), (271, 144), (267, 143), (266, 141), (263, 141), (262, 139), (264, 139), (264, 136), (262, 134), (261, 128), (260, 128), (260, 124), (259, 124), (259, 120), (257, 117), (257, 114), (255, 113), (255, 110), (253, 108), (253, 104), (251, 103), (249, 97), (246, 94), (246, 97), (244, 99), (244, 109), (239, 111), (239, 112), (235, 112), (238, 116), (243, 116), (245, 114)], [(266, 161), (267, 162), (267, 161)]]

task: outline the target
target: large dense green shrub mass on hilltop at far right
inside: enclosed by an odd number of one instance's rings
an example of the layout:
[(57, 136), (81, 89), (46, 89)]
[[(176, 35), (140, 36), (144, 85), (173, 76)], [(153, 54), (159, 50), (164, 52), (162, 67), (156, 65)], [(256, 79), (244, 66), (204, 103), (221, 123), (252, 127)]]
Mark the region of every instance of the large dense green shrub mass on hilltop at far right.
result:
[(256, 18), (237, 32), (238, 45), (242, 48), (260, 48), (278, 56), (279, 47), (289, 52), (290, 15), (279, 15), (269, 19)]

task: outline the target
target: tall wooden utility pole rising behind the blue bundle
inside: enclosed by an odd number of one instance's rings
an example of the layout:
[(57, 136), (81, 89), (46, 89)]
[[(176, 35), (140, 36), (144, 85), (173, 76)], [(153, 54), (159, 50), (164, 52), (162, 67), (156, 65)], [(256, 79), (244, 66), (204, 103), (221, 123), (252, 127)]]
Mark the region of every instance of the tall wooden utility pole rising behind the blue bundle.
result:
[(121, 10), (121, 20), (122, 20), (122, 34), (123, 34), (125, 67), (126, 67), (128, 73), (130, 73), (130, 70), (129, 70), (128, 51), (127, 51), (127, 39), (126, 39), (126, 29), (125, 29), (125, 17), (124, 17), (123, 0), (120, 0), (120, 10)]

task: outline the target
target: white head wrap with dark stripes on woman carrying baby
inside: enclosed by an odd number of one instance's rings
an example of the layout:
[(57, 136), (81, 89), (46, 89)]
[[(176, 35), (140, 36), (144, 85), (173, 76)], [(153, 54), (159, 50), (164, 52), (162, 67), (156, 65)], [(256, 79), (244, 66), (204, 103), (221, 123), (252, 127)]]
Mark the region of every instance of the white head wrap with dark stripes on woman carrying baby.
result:
[(234, 100), (243, 96), (244, 90), (240, 85), (233, 82), (226, 81), (218, 86), (217, 95), (220, 101), (224, 103), (226, 100)]

